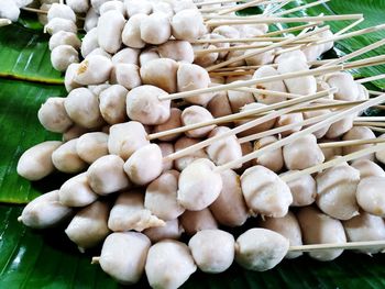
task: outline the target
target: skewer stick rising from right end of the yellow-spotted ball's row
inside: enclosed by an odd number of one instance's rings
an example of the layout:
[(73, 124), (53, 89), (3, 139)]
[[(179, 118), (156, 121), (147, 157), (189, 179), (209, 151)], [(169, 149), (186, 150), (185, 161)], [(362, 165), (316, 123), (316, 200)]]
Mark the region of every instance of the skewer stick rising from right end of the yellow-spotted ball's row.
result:
[(327, 30), (329, 30), (329, 26), (324, 26), (324, 27), (321, 27), (321, 29), (319, 29), (317, 31), (312, 31), (312, 32), (309, 32), (309, 33), (306, 33), (306, 34), (302, 34), (302, 35), (298, 35), (298, 36), (295, 36), (293, 38), (288, 38), (286, 41), (282, 41), (282, 42), (278, 42), (278, 43), (271, 44), (271, 45), (268, 45), (265, 48), (261, 48), (261, 49), (256, 49), (254, 52), (245, 53), (245, 54), (243, 54), (241, 56), (231, 58), (231, 59), (222, 62), (220, 64), (209, 66), (208, 68), (206, 68), (206, 70), (207, 71), (211, 71), (211, 70), (215, 70), (215, 69), (228, 66), (229, 64), (233, 64), (235, 62), (243, 60), (243, 59), (249, 58), (249, 57), (253, 57), (255, 55), (258, 55), (258, 54), (272, 51), (274, 48), (282, 47), (283, 45), (294, 43), (295, 41), (298, 41), (298, 40), (304, 40), (304, 38), (306, 38), (308, 36), (312, 36), (312, 35), (319, 34), (319, 33), (321, 33), (323, 31), (327, 31)]

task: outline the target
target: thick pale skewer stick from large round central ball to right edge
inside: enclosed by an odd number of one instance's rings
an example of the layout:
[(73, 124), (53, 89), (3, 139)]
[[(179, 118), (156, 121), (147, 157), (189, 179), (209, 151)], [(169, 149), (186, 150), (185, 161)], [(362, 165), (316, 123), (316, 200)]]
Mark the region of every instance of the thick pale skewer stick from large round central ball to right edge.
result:
[(364, 102), (362, 104), (355, 105), (355, 107), (353, 107), (351, 109), (343, 110), (343, 111), (341, 111), (341, 112), (339, 112), (339, 113), (337, 113), (334, 115), (330, 115), (330, 118), (328, 118), (324, 121), (316, 123), (316, 124), (314, 124), (314, 125), (311, 125), (311, 126), (309, 126), (309, 127), (307, 127), (307, 129), (305, 129), (302, 131), (296, 132), (296, 133), (294, 133), (294, 134), (292, 134), (292, 135), (280, 140), (280, 141), (278, 141), (278, 142), (275, 142), (275, 143), (270, 144), (270, 145), (267, 145), (265, 147), (262, 147), (261, 149), (257, 149), (257, 151), (255, 151), (253, 153), (250, 153), (250, 154), (248, 154), (248, 155), (245, 155), (245, 156), (243, 156), (243, 157), (241, 157), (239, 159), (235, 159), (233, 162), (229, 162), (229, 163), (227, 163), (227, 164), (224, 164), (222, 166), (219, 166), (219, 167), (216, 168), (216, 171), (220, 173), (220, 171), (223, 171), (223, 170), (227, 170), (227, 169), (230, 169), (230, 168), (238, 167), (238, 166), (242, 165), (243, 163), (246, 163), (249, 160), (252, 160), (254, 158), (260, 157), (263, 154), (266, 154), (266, 153), (272, 152), (274, 149), (277, 149), (277, 148), (279, 148), (279, 147), (284, 146), (284, 145), (287, 145), (287, 144), (296, 141), (297, 138), (302, 137), (304, 135), (314, 133), (314, 132), (316, 132), (316, 131), (318, 131), (318, 130), (320, 130), (320, 129), (322, 129), (322, 127), (324, 127), (327, 125), (330, 125), (330, 124), (332, 124), (332, 123), (334, 123), (334, 122), (337, 122), (339, 120), (342, 120), (345, 116), (352, 115), (352, 114), (358, 113), (360, 111), (363, 111), (363, 110), (365, 110), (365, 109), (367, 109), (367, 108), (370, 108), (372, 105), (380, 104), (380, 103), (382, 103), (384, 101), (385, 101), (385, 95), (382, 95), (380, 97), (370, 99), (370, 100), (367, 100), (366, 102)]

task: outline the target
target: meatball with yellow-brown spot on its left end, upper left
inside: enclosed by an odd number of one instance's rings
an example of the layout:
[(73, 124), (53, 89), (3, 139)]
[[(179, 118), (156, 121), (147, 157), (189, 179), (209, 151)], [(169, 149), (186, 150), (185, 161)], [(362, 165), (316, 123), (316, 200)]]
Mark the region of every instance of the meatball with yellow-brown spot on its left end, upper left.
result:
[(109, 58), (101, 55), (89, 56), (80, 63), (74, 80), (84, 86), (100, 85), (110, 78), (111, 70), (112, 63)]

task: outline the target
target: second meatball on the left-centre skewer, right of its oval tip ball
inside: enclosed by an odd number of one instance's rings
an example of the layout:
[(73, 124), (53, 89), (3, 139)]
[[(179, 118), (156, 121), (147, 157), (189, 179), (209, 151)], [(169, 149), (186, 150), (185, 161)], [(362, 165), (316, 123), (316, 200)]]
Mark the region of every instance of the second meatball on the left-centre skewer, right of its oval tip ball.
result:
[(77, 140), (74, 138), (62, 144), (52, 153), (52, 163), (59, 171), (75, 174), (86, 168), (86, 162), (76, 152)]

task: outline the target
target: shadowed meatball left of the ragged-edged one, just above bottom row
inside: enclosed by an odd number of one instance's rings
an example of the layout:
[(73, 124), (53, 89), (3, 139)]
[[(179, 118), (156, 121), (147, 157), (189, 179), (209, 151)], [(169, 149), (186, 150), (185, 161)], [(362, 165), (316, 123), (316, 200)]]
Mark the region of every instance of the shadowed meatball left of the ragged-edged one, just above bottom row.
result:
[(68, 224), (65, 233), (81, 253), (101, 243), (110, 230), (107, 226), (109, 205), (96, 201), (80, 210)]

